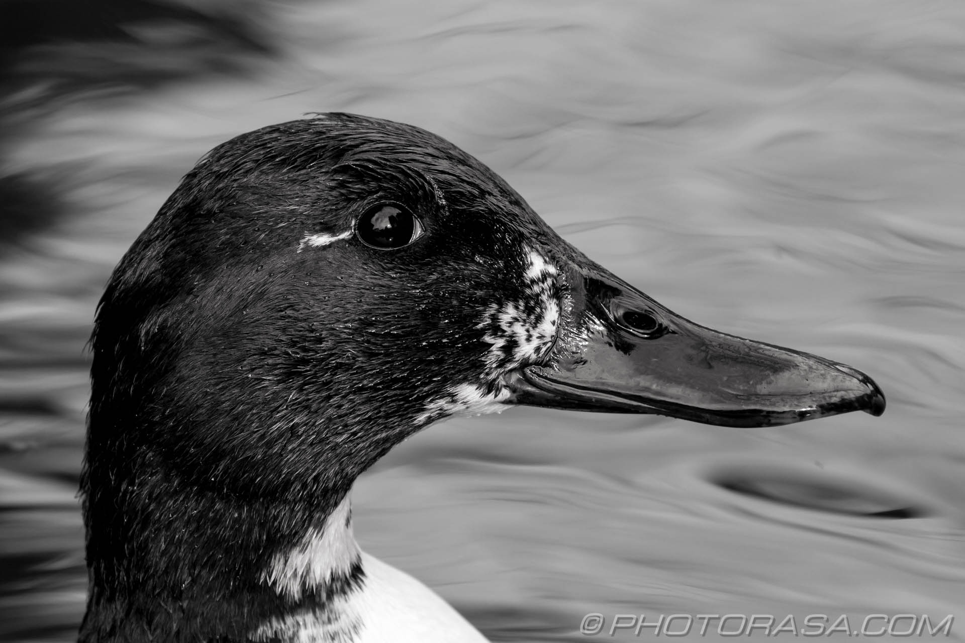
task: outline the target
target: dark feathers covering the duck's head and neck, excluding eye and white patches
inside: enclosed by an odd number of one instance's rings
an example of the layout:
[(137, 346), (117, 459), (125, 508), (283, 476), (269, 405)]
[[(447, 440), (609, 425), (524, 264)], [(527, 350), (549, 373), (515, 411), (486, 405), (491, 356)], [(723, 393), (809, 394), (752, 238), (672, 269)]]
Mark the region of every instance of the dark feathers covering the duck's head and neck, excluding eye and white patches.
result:
[[(300, 247), (379, 201), (414, 212), (425, 239)], [(485, 310), (525, 297), (526, 248), (555, 239), (417, 127), (332, 114), (209, 152), (97, 310), (82, 494), (92, 605), (112, 607), (82, 639), (123, 638), (132, 613), (185, 638), (242, 635), (276, 610), (252, 571), (437, 418), (428, 403), (499, 386)]]

